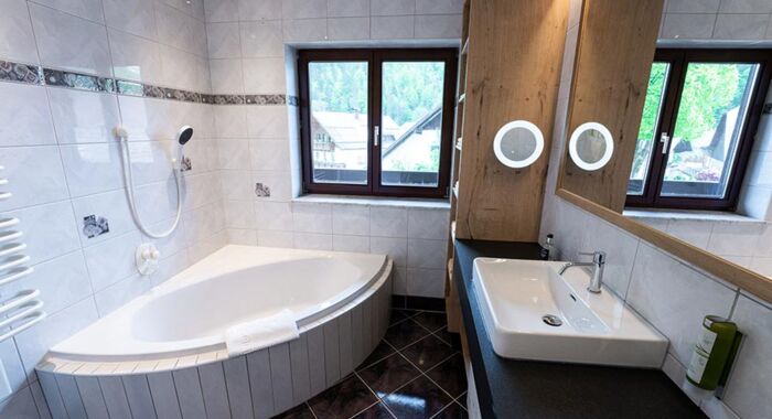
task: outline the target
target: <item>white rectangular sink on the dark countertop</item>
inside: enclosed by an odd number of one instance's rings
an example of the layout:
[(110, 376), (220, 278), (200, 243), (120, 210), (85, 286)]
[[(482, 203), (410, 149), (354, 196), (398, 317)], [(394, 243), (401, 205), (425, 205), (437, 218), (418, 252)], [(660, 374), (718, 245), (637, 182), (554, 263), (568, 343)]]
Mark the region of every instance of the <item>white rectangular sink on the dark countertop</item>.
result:
[(474, 259), (474, 293), (493, 350), (506, 358), (660, 368), (667, 340), (605, 287), (587, 291), (566, 262)]

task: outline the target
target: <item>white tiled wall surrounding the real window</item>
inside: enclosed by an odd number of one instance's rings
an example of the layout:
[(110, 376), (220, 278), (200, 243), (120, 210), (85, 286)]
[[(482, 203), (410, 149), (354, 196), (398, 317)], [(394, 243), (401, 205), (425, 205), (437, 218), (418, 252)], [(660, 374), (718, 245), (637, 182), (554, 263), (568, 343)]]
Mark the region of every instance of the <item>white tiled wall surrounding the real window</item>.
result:
[[(297, 95), (294, 45), (459, 43), (461, 0), (206, 1), (217, 94)], [(215, 107), (230, 243), (386, 253), (394, 293), (442, 297), (448, 208), (406, 201), (302, 202), (297, 106)], [(256, 183), (271, 196), (256, 196)]]

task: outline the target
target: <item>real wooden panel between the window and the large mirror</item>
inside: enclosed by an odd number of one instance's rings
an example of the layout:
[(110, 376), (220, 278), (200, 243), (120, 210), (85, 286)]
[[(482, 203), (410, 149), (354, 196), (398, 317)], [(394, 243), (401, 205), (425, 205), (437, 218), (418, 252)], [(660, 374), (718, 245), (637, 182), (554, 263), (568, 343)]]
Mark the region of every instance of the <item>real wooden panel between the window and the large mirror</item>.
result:
[[(560, 64), (566, 0), (471, 1), (457, 237), (536, 240)], [(493, 154), (504, 123), (525, 119), (545, 137), (545, 154), (513, 170)]]

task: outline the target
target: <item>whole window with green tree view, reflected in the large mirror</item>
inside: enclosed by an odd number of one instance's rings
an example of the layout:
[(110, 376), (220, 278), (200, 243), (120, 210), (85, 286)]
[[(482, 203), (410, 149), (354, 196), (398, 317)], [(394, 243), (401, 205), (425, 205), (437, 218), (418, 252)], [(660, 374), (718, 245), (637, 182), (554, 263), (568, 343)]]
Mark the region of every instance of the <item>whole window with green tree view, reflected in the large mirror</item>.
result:
[(628, 205), (733, 211), (771, 69), (770, 51), (657, 51)]

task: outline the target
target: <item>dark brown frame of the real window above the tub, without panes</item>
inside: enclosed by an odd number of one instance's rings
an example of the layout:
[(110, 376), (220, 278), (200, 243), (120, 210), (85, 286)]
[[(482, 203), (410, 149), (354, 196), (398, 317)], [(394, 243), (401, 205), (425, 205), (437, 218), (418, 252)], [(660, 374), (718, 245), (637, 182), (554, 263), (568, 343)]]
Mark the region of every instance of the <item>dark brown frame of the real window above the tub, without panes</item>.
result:
[[(440, 138), (440, 164), (438, 185), (388, 186), (382, 184), (380, 141), (374, 144), (373, 129), (380, 127), (382, 64), (384, 62), (444, 62), (442, 99), (442, 136)], [(309, 63), (312, 62), (367, 62), (367, 184), (317, 183), (313, 181), (311, 104), (309, 100)], [(298, 51), (298, 87), (300, 106), (300, 149), (302, 160), (303, 193), (367, 195), (390, 197), (447, 198), (450, 193), (450, 173), (453, 149), (453, 112), (455, 109), (455, 79), (458, 77), (458, 49), (325, 49)]]

